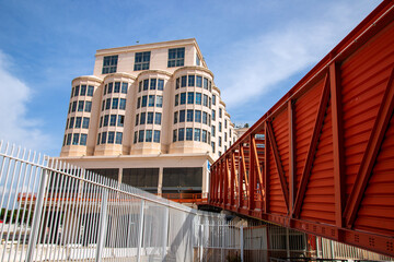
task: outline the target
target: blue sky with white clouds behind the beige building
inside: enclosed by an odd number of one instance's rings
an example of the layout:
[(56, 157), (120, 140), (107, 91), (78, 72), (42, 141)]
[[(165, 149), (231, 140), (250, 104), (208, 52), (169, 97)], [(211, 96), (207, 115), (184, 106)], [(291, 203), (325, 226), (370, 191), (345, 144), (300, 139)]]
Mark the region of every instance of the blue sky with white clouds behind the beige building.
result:
[(254, 123), (381, 1), (0, 0), (0, 139), (57, 156), (97, 49), (195, 37), (235, 123)]

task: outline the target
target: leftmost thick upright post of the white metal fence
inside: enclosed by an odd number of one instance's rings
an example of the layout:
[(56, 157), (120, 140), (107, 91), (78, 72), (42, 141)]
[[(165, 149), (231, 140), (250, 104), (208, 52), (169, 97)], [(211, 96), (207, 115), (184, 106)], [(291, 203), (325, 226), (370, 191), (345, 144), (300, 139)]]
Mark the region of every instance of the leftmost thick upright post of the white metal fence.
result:
[(45, 170), (43, 170), (42, 177), (39, 180), (37, 201), (36, 201), (36, 206), (34, 209), (34, 214), (33, 214), (33, 223), (32, 223), (33, 233), (28, 240), (26, 262), (33, 261), (34, 249), (37, 243), (40, 216), (42, 216), (43, 209), (44, 209), (44, 195), (45, 195), (47, 179), (48, 179), (48, 170), (45, 169)]

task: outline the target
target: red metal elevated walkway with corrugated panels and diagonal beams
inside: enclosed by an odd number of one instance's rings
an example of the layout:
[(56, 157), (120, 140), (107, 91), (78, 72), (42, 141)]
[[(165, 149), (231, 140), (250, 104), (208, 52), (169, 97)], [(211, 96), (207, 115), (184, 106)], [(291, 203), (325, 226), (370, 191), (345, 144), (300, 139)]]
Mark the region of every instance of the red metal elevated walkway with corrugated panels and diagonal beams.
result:
[(394, 257), (394, 1), (211, 167), (209, 204)]

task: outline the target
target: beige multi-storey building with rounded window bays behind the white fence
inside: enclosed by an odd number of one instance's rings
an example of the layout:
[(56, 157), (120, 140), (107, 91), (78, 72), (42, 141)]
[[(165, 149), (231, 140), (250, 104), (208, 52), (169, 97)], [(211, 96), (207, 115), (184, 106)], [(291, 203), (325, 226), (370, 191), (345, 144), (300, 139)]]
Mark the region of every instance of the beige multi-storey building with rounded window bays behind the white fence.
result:
[(97, 50), (71, 86), (59, 158), (153, 193), (207, 192), (236, 139), (195, 39)]

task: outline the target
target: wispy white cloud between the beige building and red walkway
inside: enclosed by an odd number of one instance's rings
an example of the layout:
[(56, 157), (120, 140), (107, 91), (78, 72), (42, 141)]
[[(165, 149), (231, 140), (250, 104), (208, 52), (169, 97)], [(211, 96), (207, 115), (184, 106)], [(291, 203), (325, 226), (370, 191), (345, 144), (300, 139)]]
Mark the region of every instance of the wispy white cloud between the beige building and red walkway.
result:
[(281, 31), (230, 45), (220, 59), (225, 66), (215, 70), (223, 100), (230, 107), (241, 106), (312, 67), (373, 9), (364, 5), (364, 10), (357, 10), (351, 3), (337, 3), (321, 16), (300, 14), (288, 20)]

